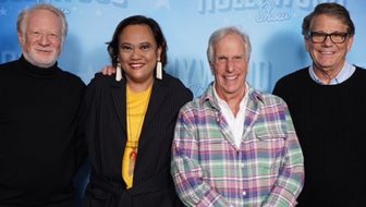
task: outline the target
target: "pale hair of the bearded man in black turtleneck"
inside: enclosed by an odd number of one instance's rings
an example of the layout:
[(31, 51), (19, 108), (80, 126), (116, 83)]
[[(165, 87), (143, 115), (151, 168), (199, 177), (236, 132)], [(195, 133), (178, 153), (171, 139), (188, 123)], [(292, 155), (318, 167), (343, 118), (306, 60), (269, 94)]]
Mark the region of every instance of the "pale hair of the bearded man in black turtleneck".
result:
[(54, 13), (58, 17), (60, 17), (61, 23), (62, 23), (62, 28), (61, 28), (61, 33), (62, 33), (62, 40), (64, 40), (64, 38), (66, 37), (68, 34), (68, 22), (66, 22), (66, 17), (64, 15), (64, 13), (59, 10), (58, 8), (48, 4), (48, 3), (39, 3), (36, 4), (29, 9), (25, 9), (23, 10), (19, 15), (17, 15), (17, 21), (16, 21), (16, 31), (17, 33), (24, 33), (25, 29), (25, 25), (26, 25), (26, 21), (29, 16), (30, 13), (38, 11), (38, 10), (47, 10), (50, 11), (52, 13)]

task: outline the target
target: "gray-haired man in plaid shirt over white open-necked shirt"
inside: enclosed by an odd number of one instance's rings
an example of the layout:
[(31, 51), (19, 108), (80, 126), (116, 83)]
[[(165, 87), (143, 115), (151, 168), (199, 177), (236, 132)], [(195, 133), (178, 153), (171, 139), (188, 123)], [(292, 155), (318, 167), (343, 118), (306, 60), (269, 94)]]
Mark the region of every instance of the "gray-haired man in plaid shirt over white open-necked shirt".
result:
[(186, 206), (295, 206), (304, 160), (285, 102), (246, 82), (251, 42), (236, 27), (215, 32), (215, 82), (180, 111), (172, 175)]

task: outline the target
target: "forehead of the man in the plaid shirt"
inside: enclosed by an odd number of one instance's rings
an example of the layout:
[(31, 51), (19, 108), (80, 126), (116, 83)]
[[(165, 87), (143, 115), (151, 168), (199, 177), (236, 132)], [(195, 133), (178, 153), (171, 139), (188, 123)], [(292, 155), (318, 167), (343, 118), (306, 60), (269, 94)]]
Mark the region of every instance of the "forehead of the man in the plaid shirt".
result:
[(243, 54), (245, 45), (240, 35), (228, 34), (215, 44), (213, 49), (217, 54)]

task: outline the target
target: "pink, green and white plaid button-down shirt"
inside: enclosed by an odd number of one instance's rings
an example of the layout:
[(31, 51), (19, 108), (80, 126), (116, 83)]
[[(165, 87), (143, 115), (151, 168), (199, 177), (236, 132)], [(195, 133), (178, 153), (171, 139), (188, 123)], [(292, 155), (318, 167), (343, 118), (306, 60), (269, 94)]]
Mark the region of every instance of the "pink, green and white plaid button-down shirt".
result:
[(304, 160), (285, 102), (248, 87), (237, 148), (212, 89), (178, 118), (171, 167), (180, 198), (202, 207), (294, 206)]

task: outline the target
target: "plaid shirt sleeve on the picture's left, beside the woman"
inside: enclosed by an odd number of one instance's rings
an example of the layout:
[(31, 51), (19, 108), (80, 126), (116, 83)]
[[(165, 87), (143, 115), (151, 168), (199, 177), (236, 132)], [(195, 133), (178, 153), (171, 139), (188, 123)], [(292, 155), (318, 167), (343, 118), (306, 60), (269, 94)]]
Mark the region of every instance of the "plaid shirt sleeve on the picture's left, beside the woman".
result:
[(199, 166), (198, 138), (187, 112), (182, 109), (174, 131), (171, 171), (179, 197), (186, 206), (230, 207), (231, 205), (204, 180)]

